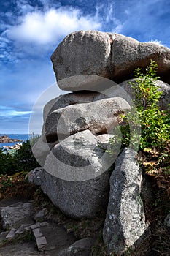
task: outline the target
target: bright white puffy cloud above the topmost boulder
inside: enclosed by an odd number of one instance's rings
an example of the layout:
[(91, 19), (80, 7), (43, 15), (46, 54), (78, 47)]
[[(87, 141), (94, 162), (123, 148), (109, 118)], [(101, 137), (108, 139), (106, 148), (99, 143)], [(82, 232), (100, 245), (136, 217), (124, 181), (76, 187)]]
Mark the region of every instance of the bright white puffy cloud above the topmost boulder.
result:
[(20, 24), (6, 31), (7, 37), (16, 42), (46, 45), (56, 43), (72, 31), (100, 29), (101, 23), (89, 15), (83, 16), (74, 8), (51, 9), (46, 12), (28, 12)]

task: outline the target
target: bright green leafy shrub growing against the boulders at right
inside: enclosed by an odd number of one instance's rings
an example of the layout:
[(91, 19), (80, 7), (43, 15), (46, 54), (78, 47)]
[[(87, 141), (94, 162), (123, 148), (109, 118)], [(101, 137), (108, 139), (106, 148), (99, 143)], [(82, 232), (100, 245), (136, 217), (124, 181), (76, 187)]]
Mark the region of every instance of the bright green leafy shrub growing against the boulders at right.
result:
[[(161, 110), (158, 105), (163, 91), (159, 91), (157, 85), (155, 61), (150, 60), (145, 70), (144, 74), (141, 69), (135, 69), (135, 79), (130, 83), (134, 91), (134, 108), (122, 115), (123, 121), (120, 126), (122, 146), (129, 146), (136, 150), (138, 146), (139, 149), (161, 150), (170, 140), (170, 113)], [(120, 140), (120, 137), (115, 138), (117, 139)], [(109, 144), (113, 145), (113, 141), (109, 140)]]

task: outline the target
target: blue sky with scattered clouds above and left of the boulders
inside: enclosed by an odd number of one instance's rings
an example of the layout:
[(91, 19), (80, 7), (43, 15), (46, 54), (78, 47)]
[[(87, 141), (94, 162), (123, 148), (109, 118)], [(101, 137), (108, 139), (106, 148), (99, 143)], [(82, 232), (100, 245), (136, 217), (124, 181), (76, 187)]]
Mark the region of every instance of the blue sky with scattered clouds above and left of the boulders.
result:
[[(55, 83), (50, 56), (72, 31), (116, 32), (170, 47), (169, 0), (1, 1), (0, 18), (0, 133), (28, 133), (35, 102)], [(47, 99), (64, 93), (50, 91)]]

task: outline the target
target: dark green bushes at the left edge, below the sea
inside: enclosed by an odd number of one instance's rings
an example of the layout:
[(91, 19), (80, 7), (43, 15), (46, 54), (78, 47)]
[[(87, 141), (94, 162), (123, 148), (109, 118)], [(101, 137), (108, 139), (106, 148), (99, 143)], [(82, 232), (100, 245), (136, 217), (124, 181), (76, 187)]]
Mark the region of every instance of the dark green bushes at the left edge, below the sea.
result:
[[(34, 143), (38, 138), (34, 138)], [(39, 167), (38, 162), (31, 151), (30, 141), (27, 140), (19, 149), (7, 151), (0, 148), (0, 175), (12, 175), (16, 172), (30, 171), (35, 167)]]

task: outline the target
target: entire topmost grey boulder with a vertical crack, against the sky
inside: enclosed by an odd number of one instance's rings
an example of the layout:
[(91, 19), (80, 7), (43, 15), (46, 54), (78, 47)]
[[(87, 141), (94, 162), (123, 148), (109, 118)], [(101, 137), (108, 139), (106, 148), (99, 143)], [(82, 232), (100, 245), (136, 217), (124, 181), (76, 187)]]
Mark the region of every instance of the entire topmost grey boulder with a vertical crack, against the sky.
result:
[(63, 39), (51, 56), (58, 86), (66, 91), (86, 89), (90, 83), (93, 90), (98, 82), (94, 77), (72, 78), (76, 75), (99, 75), (120, 83), (132, 78), (137, 67), (147, 67), (150, 59), (157, 62), (161, 80), (170, 83), (169, 48), (121, 34), (77, 31)]

